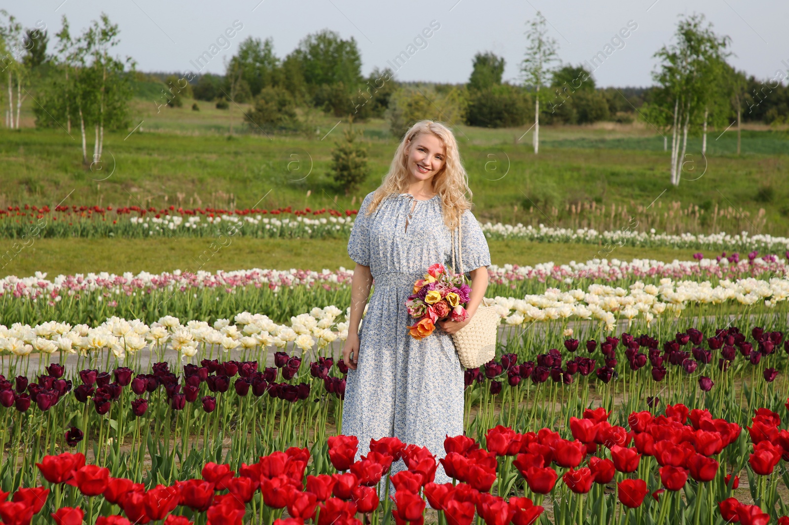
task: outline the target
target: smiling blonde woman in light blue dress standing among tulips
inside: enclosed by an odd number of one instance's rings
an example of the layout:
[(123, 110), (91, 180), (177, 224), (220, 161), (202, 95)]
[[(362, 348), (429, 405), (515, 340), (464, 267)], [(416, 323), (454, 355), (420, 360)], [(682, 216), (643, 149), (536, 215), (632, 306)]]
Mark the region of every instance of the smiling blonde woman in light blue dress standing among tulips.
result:
[[(369, 452), (371, 438), (395, 436), (442, 458), (446, 436), (463, 434), (463, 368), (450, 334), (477, 311), (491, 263), (466, 195), (471, 195), (468, 176), (452, 132), (439, 122), (420, 121), (406, 132), (380, 187), (359, 207), (348, 241), (348, 255), (357, 265), (342, 349), (350, 369), (342, 434), (359, 438), (357, 456)], [(451, 266), (458, 215), (463, 270), (471, 279), (469, 318), (439, 322), (431, 335), (417, 340), (407, 328), (413, 319), (406, 299), (428, 266)], [(375, 290), (358, 332), (373, 279)], [(398, 461), (392, 474), (403, 468)], [(449, 481), (439, 464), (436, 483)]]

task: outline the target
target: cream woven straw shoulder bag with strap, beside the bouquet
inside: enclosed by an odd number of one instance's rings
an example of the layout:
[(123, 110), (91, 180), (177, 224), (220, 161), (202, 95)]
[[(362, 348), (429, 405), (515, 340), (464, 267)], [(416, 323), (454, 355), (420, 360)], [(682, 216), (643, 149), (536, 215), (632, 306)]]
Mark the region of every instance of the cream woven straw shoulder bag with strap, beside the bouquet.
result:
[[(458, 259), (460, 263), (460, 273), (463, 275), (463, 282), (466, 282), (466, 274), (463, 274), (463, 255), (462, 255), (462, 228), (458, 222)], [(452, 236), (452, 271), (455, 271), (454, 259), (454, 235)], [(454, 348), (458, 351), (460, 364), (466, 368), (477, 368), (488, 363), (495, 358), (495, 338), (498, 333), (498, 326), (501, 322), (495, 307), (488, 304), (483, 298), (477, 311), (474, 312), (469, 324), (461, 330), (452, 333)]]

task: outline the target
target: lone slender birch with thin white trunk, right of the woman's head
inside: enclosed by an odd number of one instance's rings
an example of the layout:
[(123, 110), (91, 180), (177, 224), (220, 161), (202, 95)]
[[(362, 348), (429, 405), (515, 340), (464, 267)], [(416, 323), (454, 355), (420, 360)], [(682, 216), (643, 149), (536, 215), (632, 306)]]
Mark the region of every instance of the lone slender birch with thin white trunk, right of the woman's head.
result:
[(526, 47), (526, 56), (521, 65), (521, 73), (525, 78), (525, 83), (533, 87), (534, 96), (534, 153), (540, 149), (540, 87), (548, 85), (551, 80), (555, 66), (561, 65), (559, 56), (556, 54), (558, 43), (556, 39), (548, 35), (548, 28), (545, 27), (545, 17), (537, 11), (537, 17), (526, 23), (528, 29), (525, 32), (529, 45)]

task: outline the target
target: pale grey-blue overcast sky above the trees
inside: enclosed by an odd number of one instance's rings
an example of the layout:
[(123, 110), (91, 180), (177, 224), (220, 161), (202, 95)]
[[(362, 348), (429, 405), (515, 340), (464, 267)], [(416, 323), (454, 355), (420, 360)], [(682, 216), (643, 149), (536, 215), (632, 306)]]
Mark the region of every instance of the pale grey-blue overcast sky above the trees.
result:
[[(505, 58), (504, 80), (520, 81), (525, 23), (540, 9), (565, 63), (590, 60), (622, 28), (637, 26), (594, 70), (599, 86), (653, 84), (653, 54), (670, 43), (678, 15), (704, 13), (719, 35), (729, 35), (731, 63), (757, 78), (789, 69), (789, 2), (771, 0), (439, 0), (436, 2), (361, 2), (360, 0), (0, 0), (0, 7), (22, 24), (47, 24), (50, 35), (66, 15), (77, 32), (106, 12), (120, 27), (118, 54), (130, 55), (141, 71), (185, 72), (190, 63), (231, 28), (242, 26), (204, 72), (222, 73), (247, 36), (271, 37), (284, 57), (312, 32), (330, 28), (343, 39), (353, 36), (361, 50), (362, 73), (387, 66), (407, 51), (432, 23), (439, 28), (420, 43), (395, 73), (397, 80), (466, 82), (478, 51)], [(222, 40), (220, 39), (220, 43)]]

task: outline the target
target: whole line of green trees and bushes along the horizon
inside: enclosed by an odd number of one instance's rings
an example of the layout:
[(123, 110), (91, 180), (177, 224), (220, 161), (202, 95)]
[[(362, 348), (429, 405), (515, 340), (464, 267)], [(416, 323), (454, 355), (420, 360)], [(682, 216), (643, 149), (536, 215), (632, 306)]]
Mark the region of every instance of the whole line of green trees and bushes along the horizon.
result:
[[(42, 24), (22, 28), (0, 11), (0, 78), (5, 125), (19, 128), (21, 104), (28, 97), (36, 126), (63, 128), (80, 135), (86, 166), (100, 158), (107, 129), (129, 128), (129, 102), (142, 80), (133, 58), (118, 57), (118, 25), (107, 15), (72, 32), (66, 17), (50, 43)], [(305, 36), (284, 58), (271, 38), (248, 37), (225, 62), (225, 73), (170, 74), (155, 78), (157, 106), (182, 106), (184, 99), (210, 101), (219, 108), (247, 103), (245, 120), (252, 132), (311, 132), (314, 115), (323, 111), (354, 121), (386, 118), (394, 136), (413, 121), (434, 118), (450, 124), (489, 128), (521, 127), (533, 121), (533, 147), (539, 151), (539, 126), (630, 122), (641, 118), (671, 138), (671, 181), (679, 184), (688, 136), (702, 136), (742, 121), (784, 124), (789, 115), (789, 87), (777, 71), (768, 80), (746, 76), (731, 66), (731, 39), (716, 35), (703, 15), (682, 17), (671, 44), (657, 59), (652, 87), (597, 87), (593, 70), (630, 32), (632, 20), (590, 61), (563, 63), (559, 47), (538, 12), (526, 24), (524, 58), (518, 82), (503, 80), (504, 58), (480, 52), (464, 84), (398, 81), (391, 69), (361, 73), (361, 52), (353, 37), (329, 29)], [(612, 47), (613, 46), (613, 47)], [(193, 109), (198, 109), (196, 104)], [(78, 130), (78, 131), (75, 131)], [(88, 155), (88, 136), (93, 141)], [(73, 137), (74, 138), (74, 137)], [(668, 142), (668, 140), (667, 140)], [(739, 150), (739, 141), (738, 141)]]

